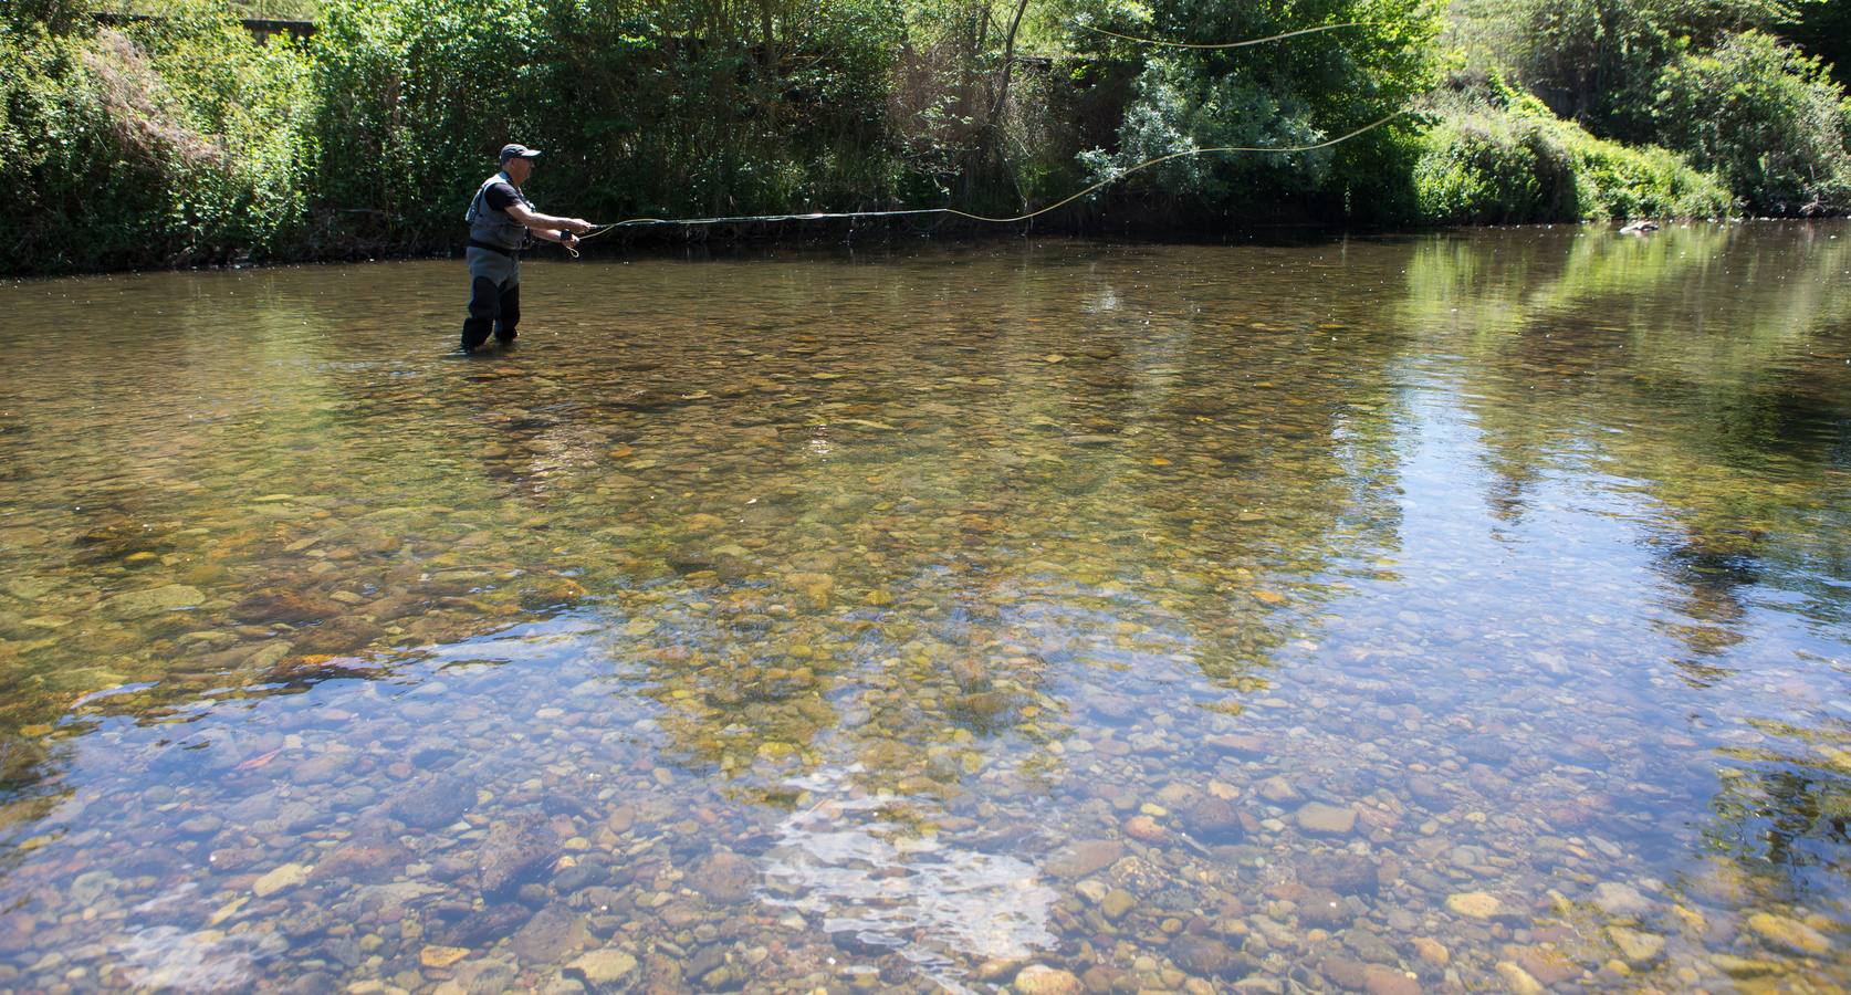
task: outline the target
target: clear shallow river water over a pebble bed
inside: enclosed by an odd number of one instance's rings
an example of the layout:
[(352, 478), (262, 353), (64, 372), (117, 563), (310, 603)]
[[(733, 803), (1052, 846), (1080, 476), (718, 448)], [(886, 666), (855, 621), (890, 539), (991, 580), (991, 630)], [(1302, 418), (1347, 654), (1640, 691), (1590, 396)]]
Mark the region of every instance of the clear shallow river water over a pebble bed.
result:
[(0, 988), (1836, 991), (1851, 227), (0, 287)]

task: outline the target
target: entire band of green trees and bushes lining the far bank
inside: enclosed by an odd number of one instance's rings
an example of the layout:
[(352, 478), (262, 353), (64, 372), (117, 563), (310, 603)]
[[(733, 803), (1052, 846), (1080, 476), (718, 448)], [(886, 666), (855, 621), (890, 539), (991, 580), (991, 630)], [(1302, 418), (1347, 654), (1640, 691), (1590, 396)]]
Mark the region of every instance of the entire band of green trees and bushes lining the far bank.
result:
[[(122, 7), (113, 7), (122, 9)], [(4, 272), (450, 250), (503, 141), (592, 218), (1051, 224), (1851, 207), (1823, 0), (89, 0), (0, 11)], [(239, 13), (313, 11), (307, 44)], [(1251, 48), (1175, 48), (1311, 26)], [(1111, 33), (1107, 33), (1111, 31)], [(1812, 39), (1812, 41), (1807, 41)], [(1027, 55), (1033, 54), (1033, 55)], [(1842, 67), (1840, 67), (1842, 68)], [(1198, 155), (1214, 146), (1305, 154)]]

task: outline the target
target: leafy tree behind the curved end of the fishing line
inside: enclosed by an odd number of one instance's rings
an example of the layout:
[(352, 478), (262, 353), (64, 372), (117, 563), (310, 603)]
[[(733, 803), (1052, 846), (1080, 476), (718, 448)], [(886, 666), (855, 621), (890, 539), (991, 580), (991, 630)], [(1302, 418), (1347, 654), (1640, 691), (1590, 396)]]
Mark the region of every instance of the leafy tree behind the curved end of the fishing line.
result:
[[(1124, 113), (1116, 150), (1087, 154), (1096, 176), (1151, 157), (1214, 146), (1316, 144), (1407, 109), (1433, 83), (1440, 15), (1427, 0), (1316, 0), (1216, 4), (1159, 0), (1094, 13), (1122, 35), (1214, 44), (1322, 24), (1355, 22), (1249, 48), (1149, 50)], [(1077, 48), (1122, 55), (1116, 39), (1081, 31)], [(1360, 211), (1359, 189), (1379, 183), (1409, 124), (1331, 150), (1185, 157), (1138, 174), (1135, 190), (1175, 213), (1246, 216), (1279, 200), (1325, 216)], [(1399, 131), (1399, 135), (1398, 135)], [(1368, 198), (1373, 203), (1373, 198)]]

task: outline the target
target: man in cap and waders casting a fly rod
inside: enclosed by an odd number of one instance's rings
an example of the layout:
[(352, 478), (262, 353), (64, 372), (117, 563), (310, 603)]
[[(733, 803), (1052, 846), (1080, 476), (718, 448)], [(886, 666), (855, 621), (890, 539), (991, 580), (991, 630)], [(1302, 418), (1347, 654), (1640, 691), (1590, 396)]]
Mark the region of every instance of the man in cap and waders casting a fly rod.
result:
[(533, 176), (540, 150), (522, 144), (502, 146), (502, 172), (481, 181), (468, 203), (468, 318), (463, 320), (463, 351), (472, 353), (494, 331), (503, 346), (515, 340), (520, 324), (520, 250), (529, 237), (572, 246), (594, 226), (585, 218), (540, 215), (520, 192)]

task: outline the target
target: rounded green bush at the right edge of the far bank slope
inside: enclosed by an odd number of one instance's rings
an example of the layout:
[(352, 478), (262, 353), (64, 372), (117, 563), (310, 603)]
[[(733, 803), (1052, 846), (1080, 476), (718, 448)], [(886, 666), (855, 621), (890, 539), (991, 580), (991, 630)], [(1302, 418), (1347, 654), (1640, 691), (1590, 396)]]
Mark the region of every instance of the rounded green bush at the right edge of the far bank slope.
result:
[(1760, 31), (1666, 67), (1653, 105), (1664, 144), (1720, 172), (1757, 211), (1851, 207), (1851, 100), (1825, 67)]

